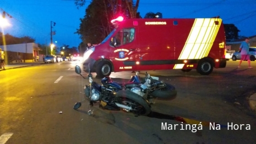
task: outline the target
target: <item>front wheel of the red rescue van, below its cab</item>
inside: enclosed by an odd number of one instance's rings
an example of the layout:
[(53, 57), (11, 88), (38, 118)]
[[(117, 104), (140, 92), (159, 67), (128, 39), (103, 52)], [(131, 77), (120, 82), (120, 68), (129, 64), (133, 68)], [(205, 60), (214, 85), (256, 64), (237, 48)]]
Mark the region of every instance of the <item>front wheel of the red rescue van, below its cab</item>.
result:
[(96, 73), (99, 77), (109, 76), (111, 74), (111, 64), (106, 61), (101, 61), (97, 64)]

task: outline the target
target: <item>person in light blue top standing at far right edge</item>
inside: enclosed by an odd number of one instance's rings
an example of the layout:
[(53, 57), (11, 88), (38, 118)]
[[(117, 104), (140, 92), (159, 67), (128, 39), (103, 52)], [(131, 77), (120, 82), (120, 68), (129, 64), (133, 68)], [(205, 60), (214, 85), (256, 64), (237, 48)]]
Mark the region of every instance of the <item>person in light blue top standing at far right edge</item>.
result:
[(250, 67), (249, 47), (249, 37), (247, 37), (246, 40), (244, 40), (239, 47), (239, 50), (241, 51), (241, 59), (239, 61), (238, 68), (241, 68), (241, 63), (243, 62), (243, 60), (247, 60), (248, 69), (252, 69), (252, 67)]

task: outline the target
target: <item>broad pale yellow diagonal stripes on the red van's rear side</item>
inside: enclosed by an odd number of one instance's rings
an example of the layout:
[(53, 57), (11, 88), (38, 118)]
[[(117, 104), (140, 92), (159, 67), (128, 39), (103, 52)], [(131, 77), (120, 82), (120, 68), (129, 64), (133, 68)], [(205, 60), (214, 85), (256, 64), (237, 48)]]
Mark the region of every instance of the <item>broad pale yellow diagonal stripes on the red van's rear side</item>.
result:
[[(215, 21), (219, 24), (216, 25)], [(221, 21), (221, 19), (195, 19), (178, 59), (207, 57), (220, 29)], [(173, 69), (181, 68), (176, 64)]]

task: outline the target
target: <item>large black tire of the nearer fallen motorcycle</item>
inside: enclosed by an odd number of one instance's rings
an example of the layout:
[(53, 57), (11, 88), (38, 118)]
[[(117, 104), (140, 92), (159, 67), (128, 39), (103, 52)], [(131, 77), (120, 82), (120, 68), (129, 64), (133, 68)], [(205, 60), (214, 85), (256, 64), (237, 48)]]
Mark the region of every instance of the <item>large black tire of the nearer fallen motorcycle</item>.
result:
[(132, 112), (137, 115), (148, 115), (151, 112), (150, 104), (142, 96), (131, 91), (118, 91), (115, 97), (118, 102), (132, 107)]

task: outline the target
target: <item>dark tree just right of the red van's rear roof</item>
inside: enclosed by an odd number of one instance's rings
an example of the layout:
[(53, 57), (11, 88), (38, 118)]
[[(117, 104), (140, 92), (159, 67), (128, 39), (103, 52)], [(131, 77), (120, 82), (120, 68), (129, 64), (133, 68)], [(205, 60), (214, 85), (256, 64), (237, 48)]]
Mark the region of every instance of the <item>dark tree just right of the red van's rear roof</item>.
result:
[(237, 39), (240, 30), (234, 24), (224, 24), (226, 39)]

